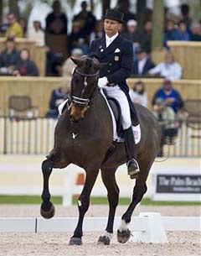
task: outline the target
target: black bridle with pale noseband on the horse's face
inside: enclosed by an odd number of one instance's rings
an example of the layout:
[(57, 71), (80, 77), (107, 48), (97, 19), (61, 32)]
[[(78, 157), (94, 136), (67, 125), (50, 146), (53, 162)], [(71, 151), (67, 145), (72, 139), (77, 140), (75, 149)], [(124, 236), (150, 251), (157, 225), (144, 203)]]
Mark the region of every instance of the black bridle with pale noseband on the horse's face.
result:
[[(85, 81), (84, 81), (84, 86), (85, 87), (87, 86), (87, 81), (86, 81), (87, 77), (99, 76), (99, 71), (95, 72), (94, 74), (85, 74), (85, 73), (81, 73), (80, 71), (78, 71), (77, 68), (75, 68), (74, 73), (77, 73), (80, 76), (84, 76), (85, 77)], [(88, 107), (88, 105), (90, 103), (90, 99), (85, 99), (85, 98), (82, 97), (82, 95), (83, 95), (83, 93), (85, 91), (85, 87), (82, 90), (81, 97), (76, 97), (76, 96), (72, 95), (71, 98), (72, 98), (72, 102), (75, 102), (77, 104), (84, 105), (85, 107)]]

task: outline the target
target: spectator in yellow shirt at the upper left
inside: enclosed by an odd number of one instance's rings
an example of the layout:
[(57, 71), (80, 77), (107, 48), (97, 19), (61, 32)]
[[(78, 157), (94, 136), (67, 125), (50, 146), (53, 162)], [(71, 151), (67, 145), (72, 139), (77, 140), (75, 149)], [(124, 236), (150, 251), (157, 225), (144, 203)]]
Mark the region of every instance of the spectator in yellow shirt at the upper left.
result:
[(23, 37), (23, 29), (20, 26), (20, 24), (18, 24), (18, 21), (15, 17), (14, 13), (8, 13), (7, 14), (7, 20), (8, 20), (8, 29), (6, 31), (5, 36), (6, 37)]

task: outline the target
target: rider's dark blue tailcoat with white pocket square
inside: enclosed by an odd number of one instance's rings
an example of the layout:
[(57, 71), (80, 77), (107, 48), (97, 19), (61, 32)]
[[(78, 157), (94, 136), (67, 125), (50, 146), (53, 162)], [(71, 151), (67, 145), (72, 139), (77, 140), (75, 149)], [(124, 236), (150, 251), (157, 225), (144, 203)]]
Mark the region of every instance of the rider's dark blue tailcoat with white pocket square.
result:
[(106, 37), (95, 39), (90, 45), (90, 53), (99, 56), (101, 63), (107, 65), (101, 69), (100, 77), (106, 76), (109, 83), (115, 83), (125, 92), (131, 109), (131, 116), (134, 114), (137, 118), (136, 109), (129, 96), (129, 88), (126, 84), (126, 78), (131, 76), (131, 67), (133, 61), (133, 50), (131, 41), (118, 35), (116, 39), (106, 48)]

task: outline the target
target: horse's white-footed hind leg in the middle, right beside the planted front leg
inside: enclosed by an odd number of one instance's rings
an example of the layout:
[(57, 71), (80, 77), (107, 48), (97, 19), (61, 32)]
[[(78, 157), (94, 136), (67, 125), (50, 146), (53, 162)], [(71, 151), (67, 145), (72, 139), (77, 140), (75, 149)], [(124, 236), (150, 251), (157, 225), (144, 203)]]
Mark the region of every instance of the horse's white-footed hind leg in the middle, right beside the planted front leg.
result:
[(118, 201), (119, 201), (119, 188), (118, 188), (118, 185), (116, 184), (115, 173), (116, 173), (116, 168), (101, 169), (101, 177), (104, 185), (106, 185), (107, 197), (108, 197), (109, 206), (110, 206), (106, 232), (98, 240), (98, 243), (102, 243), (105, 245), (109, 245), (111, 243), (116, 206), (118, 205)]

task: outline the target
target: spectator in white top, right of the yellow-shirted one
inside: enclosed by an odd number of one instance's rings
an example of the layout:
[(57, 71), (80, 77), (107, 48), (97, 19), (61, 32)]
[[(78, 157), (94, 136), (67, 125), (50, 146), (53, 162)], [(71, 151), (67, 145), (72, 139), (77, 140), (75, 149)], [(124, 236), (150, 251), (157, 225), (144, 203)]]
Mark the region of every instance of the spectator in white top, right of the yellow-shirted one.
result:
[(44, 31), (39, 20), (33, 21), (33, 27), (28, 30), (28, 39), (33, 39), (37, 46), (44, 46)]

